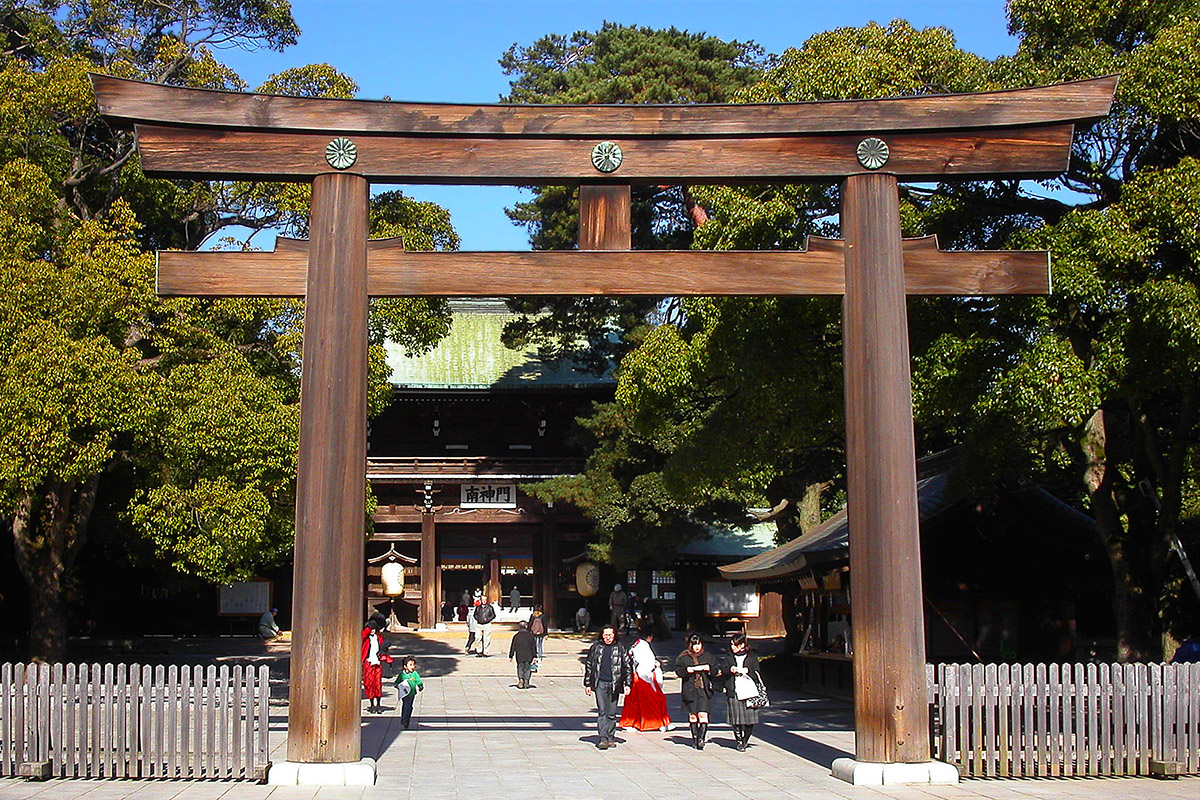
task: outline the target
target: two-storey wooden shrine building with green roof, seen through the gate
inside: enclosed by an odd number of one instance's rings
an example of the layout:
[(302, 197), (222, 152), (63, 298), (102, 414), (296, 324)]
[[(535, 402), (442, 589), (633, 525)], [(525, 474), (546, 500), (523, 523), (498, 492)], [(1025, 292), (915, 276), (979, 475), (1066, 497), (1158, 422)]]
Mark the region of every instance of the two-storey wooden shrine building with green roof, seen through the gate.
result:
[[(562, 599), (574, 614), (574, 561), (595, 541), (594, 525), (521, 487), (583, 468), (586, 451), (570, 441), (575, 419), (611, 401), (616, 383), (611, 373), (542, 362), (532, 348), (505, 348), (500, 332), (514, 314), (500, 300), (451, 309), (451, 331), (430, 353), (408, 357), (388, 345), (394, 397), (371, 421), (367, 444), (378, 500), (367, 612), (386, 614), (391, 601), (400, 622), (432, 627), (463, 591), (482, 588), (506, 604), (516, 587), (522, 607), (541, 603), (553, 620)], [(402, 565), (402, 596), (386, 594), (390, 560)]]

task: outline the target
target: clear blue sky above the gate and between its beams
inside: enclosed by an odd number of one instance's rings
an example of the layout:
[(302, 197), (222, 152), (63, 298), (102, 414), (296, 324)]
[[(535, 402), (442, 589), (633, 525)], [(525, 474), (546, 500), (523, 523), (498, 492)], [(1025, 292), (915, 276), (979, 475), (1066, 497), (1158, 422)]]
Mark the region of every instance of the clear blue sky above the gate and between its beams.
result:
[[(752, 40), (778, 54), (823, 30), (901, 18), (918, 28), (949, 28), (960, 47), (985, 58), (1016, 48), (1003, 0), (293, 0), (292, 6), (304, 31), (295, 47), (221, 54), (252, 86), (287, 67), (324, 62), (349, 74), (364, 98), (493, 103), (508, 91), (497, 61), (510, 46), (595, 30), (605, 20)], [(528, 249), (524, 230), (504, 216), (504, 206), (521, 198), (515, 188), (403, 188), (450, 209), (463, 249)]]

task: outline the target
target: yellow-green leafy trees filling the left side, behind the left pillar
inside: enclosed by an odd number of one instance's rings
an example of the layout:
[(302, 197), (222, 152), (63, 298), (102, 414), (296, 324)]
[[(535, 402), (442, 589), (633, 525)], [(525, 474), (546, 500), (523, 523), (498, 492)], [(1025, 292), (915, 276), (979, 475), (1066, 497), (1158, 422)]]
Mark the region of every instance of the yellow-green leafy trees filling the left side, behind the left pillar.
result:
[[(35, 657), (62, 656), (72, 566), (102, 488), (124, 507), (120, 535), (204, 581), (248, 577), (290, 548), (302, 303), (160, 300), (149, 251), (232, 225), (304, 235), (310, 190), (148, 179), (132, 137), (97, 116), (86, 73), (245, 89), (215, 52), (282, 49), (298, 35), (281, 0), (0, 10), (0, 516), (31, 596)], [(356, 91), (328, 65), (260, 89)], [(371, 229), (410, 248), (458, 245), (443, 209), (398, 192), (372, 199)], [(379, 410), (384, 339), (420, 351), (449, 313), (428, 300), (374, 312)]]

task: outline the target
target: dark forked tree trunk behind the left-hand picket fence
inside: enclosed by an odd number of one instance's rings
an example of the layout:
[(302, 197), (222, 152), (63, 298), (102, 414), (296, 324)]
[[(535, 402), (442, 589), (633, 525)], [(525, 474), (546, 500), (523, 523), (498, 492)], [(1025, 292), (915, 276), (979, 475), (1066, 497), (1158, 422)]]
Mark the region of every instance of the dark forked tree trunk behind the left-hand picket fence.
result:
[(66, 579), (83, 546), (100, 476), (46, 485), (24, 494), (12, 521), (17, 566), (29, 589), (29, 655), (55, 662), (66, 656)]

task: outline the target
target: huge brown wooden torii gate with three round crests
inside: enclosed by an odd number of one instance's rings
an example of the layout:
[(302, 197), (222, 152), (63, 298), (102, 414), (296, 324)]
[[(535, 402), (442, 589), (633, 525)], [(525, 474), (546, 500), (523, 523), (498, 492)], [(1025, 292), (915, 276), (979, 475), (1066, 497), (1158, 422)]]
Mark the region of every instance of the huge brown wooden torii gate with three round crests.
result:
[[(844, 294), (856, 783), (956, 781), (930, 762), (906, 294), (1049, 291), (1046, 253), (902, 241), (899, 180), (1054, 176), (1116, 78), (973, 95), (750, 106), (311, 100), (92, 76), (149, 175), (312, 181), (311, 239), (158, 255), (163, 295), (305, 296), (288, 762), (277, 782), (373, 782), (359, 762), (370, 296)], [(842, 181), (842, 241), (630, 251), (632, 184)], [(578, 184), (580, 249), (409, 253), (367, 241), (371, 181)], [(422, 622), (433, 619), (432, 527)], [(428, 541), (425, 541), (425, 540)]]

